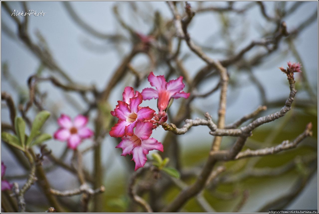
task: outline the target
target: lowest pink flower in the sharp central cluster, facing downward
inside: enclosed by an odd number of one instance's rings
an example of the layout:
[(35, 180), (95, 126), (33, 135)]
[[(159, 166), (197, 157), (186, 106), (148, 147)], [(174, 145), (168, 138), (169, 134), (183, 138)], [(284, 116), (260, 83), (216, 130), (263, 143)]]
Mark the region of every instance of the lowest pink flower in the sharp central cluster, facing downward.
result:
[(150, 138), (152, 126), (151, 122), (138, 121), (134, 134), (123, 137), (122, 141), (115, 147), (123, 150), (122, 156), (133, 155), (135, 171), (145, 165), (146, 155), (149, 151), (156, 149), (163, 152), (163, 145), (155, 138)]

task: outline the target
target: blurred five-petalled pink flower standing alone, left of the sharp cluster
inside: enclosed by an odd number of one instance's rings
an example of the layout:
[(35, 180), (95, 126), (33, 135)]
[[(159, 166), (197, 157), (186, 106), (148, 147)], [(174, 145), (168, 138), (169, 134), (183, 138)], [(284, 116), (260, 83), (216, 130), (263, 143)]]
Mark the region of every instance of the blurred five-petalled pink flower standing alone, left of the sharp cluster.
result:
[(88, 118), (83, 115), (78, 115), (72, 122), (69, 116), (61, 114), (57, 121), (61, 128), (54, 133), (54, 138), (68, 141), (68, 147), (71, 149), (76, 149), (82, 139), (90, 138), (94, 134), (91, 129), (85, 127)]

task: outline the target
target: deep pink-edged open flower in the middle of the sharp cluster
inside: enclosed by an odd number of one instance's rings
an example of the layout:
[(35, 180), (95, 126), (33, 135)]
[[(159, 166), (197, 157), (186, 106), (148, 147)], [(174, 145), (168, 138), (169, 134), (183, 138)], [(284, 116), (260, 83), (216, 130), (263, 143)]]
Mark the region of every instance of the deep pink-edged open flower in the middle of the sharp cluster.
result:
[(140, 108), (143, 97), (140, 93), (136, 97), (130, 98), (130, 104), (117, 101), (118, 108), (115, 109), (115, 116), (119, 118), (117, 124), (111, 128), (111, 137), (132, 136), (133, 128), (137, 121), (145, 121), (153, 118), (155, 111), (150, 107)]

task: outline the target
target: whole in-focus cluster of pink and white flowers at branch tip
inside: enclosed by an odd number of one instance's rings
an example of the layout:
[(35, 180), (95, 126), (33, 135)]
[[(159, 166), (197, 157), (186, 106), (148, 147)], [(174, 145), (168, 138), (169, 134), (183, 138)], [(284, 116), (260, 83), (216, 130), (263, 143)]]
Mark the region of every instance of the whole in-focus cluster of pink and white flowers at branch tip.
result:
[[(145, 88), (142, 93), (134, 92), (132, 87), (126, 87), (123, 92), (122, 101), (117, 101), (111, 114), (118, 118), (115, 126), (110, 131), (110, 136), (121, 137), (122, 141), (116, 148), (122, 149), (122, 156), (133, 155), (135, 170), (143, 167), (146, 163), (146, 155), (151, 150), (163, 152), (163, 145), (151, 138), (152, 130), (167, 121), (167, 106), (171, 98), (188, 98), (189, 93), (182, 89), (185, 85), (183, 78), (166, 82), (164, 76), (155, 76), (153, 72), (148, 76), (151, 86), (156, 88)], [(150, 107), (141, 107), (143, 100), (158, 99), (159, 112), (155, 113)], [(134, 130), (135, 128), (135, 130)]]

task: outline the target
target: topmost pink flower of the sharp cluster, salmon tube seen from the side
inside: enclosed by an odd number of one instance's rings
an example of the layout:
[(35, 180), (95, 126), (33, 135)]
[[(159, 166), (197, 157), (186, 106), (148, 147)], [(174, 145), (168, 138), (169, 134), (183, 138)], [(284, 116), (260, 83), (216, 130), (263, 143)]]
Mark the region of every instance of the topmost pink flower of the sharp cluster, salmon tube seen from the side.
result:
[(147, 79), (151, 83), (151, 86), (154, 86), (157, 90), (153, 88), (144, 88), (142, 91), (143, 99), (158, 99), (157, 107), (159, 111), (165, 111), (167, 109), (171, 98), (178, 99), (184, 97), (187, 99), (189, 97), (189, 93), (181, 91), (185, 87), (182, 76), (176, 80), (166, 82), (164, 76), (155, 76), (154, 73), (151, 72)]

